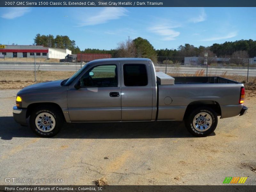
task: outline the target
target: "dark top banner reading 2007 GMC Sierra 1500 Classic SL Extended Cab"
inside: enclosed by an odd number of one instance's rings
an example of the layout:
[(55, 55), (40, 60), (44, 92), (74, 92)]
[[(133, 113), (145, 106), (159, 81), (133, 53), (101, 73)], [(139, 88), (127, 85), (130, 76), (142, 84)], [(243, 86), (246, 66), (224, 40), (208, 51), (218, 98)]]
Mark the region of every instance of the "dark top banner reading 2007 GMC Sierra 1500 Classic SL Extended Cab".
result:
[(255, 0), (1, 0), (1, 7), (256, 7)]

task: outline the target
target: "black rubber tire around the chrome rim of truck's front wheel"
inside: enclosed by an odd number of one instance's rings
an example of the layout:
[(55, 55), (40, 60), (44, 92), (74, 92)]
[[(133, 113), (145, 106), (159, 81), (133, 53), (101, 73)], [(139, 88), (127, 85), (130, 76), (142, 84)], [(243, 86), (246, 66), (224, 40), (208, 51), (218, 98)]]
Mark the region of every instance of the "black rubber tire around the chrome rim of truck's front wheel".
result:
[[(38, 128), (36, 126), (36, 117), (39, 114), (43, 115), (45, 113), (50, 114), (49, 116), (47, 116), (48, 120), (51, 122), (54, 122), (54, 127), (52, 130), (50, 130), (51, 128), (49, 128), (49, 130), (43, 130), (43, 129), (40, 129), (40, 127)], [(40, 116), (39, 116), (39, 118), (40, 118)], [(52, 120), (54, 120), (54, 121), (52, 121)], [(43, 120), (41, 120), (41, 121), (43, 122)], [(30, 128), (32, 129), (33, 132), (35, 132), (37, 135), (39, 135), (41, 137), (52, 137), (52, 136), (56, 135), (60, 131), (60, 129), (62, 127), (62, 123), (63, 123), (62, 111), (60, 111), (54, 107), (51, 107), (51, 106), (39, 106), (39, 107), (35, 108), (30, 114), (30, 119), (29, 119)], [(48, 125), (48, 126), (50, 126), (50, 125)], [(45, 127), (45, 129), (47, 129), (47, 128)]]

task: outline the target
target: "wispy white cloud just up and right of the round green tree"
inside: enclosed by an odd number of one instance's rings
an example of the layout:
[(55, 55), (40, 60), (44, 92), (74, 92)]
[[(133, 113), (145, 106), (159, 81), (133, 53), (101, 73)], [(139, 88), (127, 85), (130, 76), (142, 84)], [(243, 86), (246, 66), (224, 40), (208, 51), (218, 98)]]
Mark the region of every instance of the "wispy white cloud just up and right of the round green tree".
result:
[(149, 28), (149, 31), (163, 36), (162, 40), (170, 41), (174, 40), (175, 37), (180, 35), (179, 31), (173, 30), (170, 26), (165, 26), (165, 25), (157, 25), (154, 27)]

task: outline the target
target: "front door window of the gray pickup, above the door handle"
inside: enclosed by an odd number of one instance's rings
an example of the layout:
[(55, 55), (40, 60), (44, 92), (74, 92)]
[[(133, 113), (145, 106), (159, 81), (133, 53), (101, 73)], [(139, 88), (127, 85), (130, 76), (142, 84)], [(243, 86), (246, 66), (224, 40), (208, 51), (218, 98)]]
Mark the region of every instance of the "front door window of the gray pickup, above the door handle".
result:
[(81, 77), (81, 87), (117, 87), (116, 65), (100, 65)]

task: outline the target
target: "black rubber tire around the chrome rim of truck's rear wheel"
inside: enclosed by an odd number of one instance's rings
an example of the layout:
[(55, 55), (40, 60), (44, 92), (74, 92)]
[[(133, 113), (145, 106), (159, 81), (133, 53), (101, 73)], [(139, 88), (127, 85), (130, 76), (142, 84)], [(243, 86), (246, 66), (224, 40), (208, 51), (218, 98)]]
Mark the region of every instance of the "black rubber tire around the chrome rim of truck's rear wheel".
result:
[[(208, 119), (212, 118), (212, 123), (211, 123), (211, 125), (209, 124), (210, 126), (207, 126), (207, 124), (206, 124), (206, 126), (204, 126), (204, 124), (197, 124), (197, 123), (193, 124), (194, 118), (197, 121), (197, 119), (199, 119), (197, 117), (200, 117), (200, 115), (199, 116), (197, 116), (197, 115), (200, 113), (209, 114), (209, 116), (206, 116), (206, 117), (209, 117)], [(206, 119), (206, 120), (208, 120), (208, 119)], [(204, 120), (202, 120), (202, 122), (204, 122)], [(201, 123), (201, 121), (199, 121), (199, 123)], [(186, 125), (186, 128), (188, 129), (188, 132), (190, 132), (192, 135), (195, 135), (197, 137), (205, 137), (207, 135), (210, 135), (216, 129), (217, 124), (218, 124), (217, 114), (215, 113), (214, 110), (212, 110), (211, 108), (208, 108), (208, 107), (199, 107), (199, 108), (192, 110), (188, 114), (188, 117), (185, 119), (185, 125)], [(196, 127), (197, 125), (201, 125), (203, 130), (199, 131), (200, 128)]]

